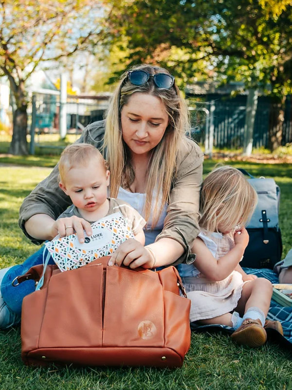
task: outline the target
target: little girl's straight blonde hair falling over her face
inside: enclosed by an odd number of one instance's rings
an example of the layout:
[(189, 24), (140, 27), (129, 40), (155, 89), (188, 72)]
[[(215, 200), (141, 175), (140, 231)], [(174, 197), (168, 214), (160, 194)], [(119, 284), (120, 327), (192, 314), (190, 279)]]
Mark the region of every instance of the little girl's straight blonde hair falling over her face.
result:
[(245, 226), (257, 203), (256, 190), (232, 166), (219, 166), (210, 172), (201, 187), (199, 224), (206, 232), (233, 231)]

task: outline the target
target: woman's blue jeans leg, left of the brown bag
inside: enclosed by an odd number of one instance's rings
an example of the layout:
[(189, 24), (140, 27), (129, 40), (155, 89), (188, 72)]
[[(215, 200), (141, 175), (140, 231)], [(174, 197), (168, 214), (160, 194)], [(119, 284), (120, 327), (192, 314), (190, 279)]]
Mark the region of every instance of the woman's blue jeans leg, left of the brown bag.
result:
[[(35, 291), (36, 286), (33, 280), (28, 280), (25, 283), (13, 287), (12, 282), (17, 276), (25, 274), (29, 268), (43, 264), (43, 250), (42, 246), (36, 253), (30, 256), (23, 264), (11, 267), (4, 275), (1, 282), (1, 295), (6, 305), (10, 310), (16, 314), (21, 314), (21, 305), (23, 298)], [(55, 264), (53, 258), (50, 259), (49, 264)]]

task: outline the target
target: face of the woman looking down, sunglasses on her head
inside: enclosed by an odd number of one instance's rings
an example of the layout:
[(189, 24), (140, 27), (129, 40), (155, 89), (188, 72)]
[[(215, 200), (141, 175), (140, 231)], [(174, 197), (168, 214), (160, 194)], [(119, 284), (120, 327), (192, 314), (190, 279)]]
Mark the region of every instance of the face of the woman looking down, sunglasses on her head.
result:
[(121, 111), (122, 136), (132, 155), (147, 155), (158, 145), (168, 125), (161, 99), (136, 92)]

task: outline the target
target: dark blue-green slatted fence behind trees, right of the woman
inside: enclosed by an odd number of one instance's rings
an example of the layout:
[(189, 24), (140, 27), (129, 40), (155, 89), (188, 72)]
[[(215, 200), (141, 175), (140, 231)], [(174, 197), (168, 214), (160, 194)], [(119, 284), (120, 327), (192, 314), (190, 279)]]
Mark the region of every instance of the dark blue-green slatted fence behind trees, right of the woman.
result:
[[(193, 102), (193, 101), (192, 101)], [(269, 128), (278, 126), (278, 107), (268, 98), (259, 98), (254, 124), (253, 148), (269, 147)], [(205, 146), (211, 138), (219, 149), (240, 149), (244, 144), (246, 97), (235, 99), (213, 99), (196, 102), (191, 107), (192, 136)], [(274, 122), (274, 123), (273, 123)], [(288, 96), (285, 104), (282, 145), (292, 143), (292, 99)]]

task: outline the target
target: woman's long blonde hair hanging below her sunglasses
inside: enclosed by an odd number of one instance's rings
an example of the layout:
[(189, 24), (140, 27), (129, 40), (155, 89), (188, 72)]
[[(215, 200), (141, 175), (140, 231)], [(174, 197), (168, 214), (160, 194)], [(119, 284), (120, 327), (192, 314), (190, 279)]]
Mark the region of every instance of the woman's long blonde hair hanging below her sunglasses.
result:
[[(159, 66), (139, 65), (132, 70), (145, 70), (151, 75), (169, 72)], [(145, 93), (161, 99), (168, 114), (169, 123), (161, 142), (152, 150), (146, 177), (145, 219), (149, 219), (153, 189), (156, 190), (153, 210), (154, 227), (160, 217), (163, 206), (169, 199), (173, 175), (175, 174), (178, 146), (186, 130), (190, 129), (187, 105), (176, 85), (170, 89), (158, 88), (153, 77), (143, 85), (133, 85), (128, 81), (128, 72), (124, 73), (118, 88), (113, 93), (107, 112), (106, 132), (103, 151), (110, 165), (110, 196), (116, 198), (119, 187), (130, 188), (135, 179), (135, 171), (122, 138), (121, 111), (134, 93)], [(162, 195), (160, 202), (159, 197)]]

